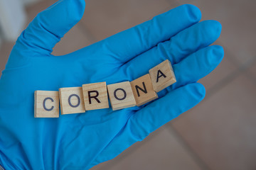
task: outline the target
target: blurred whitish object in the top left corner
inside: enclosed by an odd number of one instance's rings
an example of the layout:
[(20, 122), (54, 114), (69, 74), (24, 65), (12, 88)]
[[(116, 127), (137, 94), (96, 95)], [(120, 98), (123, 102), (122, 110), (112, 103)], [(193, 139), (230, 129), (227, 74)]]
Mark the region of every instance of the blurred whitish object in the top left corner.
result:
[(26, 22), (26, 13), (21, 0), (0, 0), (0, 26), (3, 37), (15, 41)]

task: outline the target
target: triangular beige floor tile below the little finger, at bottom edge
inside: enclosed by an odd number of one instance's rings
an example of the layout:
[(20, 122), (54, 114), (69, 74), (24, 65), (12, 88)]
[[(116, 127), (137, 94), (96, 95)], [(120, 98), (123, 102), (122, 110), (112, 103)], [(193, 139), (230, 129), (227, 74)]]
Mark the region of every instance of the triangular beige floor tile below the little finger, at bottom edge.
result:
[(156, 130), (144, 141), (135, 143), (115, 159), (103, 164), (105, 166), (95, 166), (93, 170), (201, 169), (174, 133), (166, 128)]

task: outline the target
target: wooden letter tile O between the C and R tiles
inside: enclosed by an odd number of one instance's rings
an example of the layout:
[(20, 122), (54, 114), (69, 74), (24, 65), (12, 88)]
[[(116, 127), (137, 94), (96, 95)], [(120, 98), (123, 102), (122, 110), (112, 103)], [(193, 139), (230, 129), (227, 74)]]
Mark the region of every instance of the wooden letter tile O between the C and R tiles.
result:
[(60, 110), (62, 115), (85, 113), (82, 87), (60, 88)]

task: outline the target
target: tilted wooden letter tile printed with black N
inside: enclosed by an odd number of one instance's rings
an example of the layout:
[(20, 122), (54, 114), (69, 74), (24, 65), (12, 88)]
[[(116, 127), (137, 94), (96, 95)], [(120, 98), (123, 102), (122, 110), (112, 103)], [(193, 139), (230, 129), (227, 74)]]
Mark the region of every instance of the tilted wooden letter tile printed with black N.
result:
[(131, 82), (132, 91), (137, 106), (142, 106), (144, 103), (158, 98), (156, 92), (153, 89), (149, 74), (139, 77)]

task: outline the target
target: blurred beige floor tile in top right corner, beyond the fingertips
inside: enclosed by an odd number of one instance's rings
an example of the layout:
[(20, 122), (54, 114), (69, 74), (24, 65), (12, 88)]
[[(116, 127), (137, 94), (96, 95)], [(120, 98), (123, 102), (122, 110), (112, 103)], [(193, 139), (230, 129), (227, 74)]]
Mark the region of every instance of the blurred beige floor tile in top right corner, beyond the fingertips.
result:
[(256, 55), (256, 1), (252, 0), (181, 0), (181, 4), (194, 4), (202, 11), (202, 19), (220, 21), (223, 26), (218, 39), (238, 63), (244, 63)]

